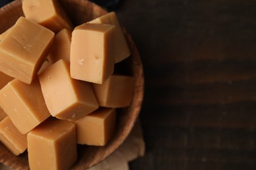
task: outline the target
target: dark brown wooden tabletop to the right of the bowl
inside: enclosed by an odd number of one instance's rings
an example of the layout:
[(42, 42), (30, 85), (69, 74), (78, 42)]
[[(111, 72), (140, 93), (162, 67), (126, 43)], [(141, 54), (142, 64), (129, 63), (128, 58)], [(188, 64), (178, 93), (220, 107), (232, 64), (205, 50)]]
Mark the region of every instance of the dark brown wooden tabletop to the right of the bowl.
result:
[(131, 169), (256, 169), (256, 1), (123, 0), (144, 63)]

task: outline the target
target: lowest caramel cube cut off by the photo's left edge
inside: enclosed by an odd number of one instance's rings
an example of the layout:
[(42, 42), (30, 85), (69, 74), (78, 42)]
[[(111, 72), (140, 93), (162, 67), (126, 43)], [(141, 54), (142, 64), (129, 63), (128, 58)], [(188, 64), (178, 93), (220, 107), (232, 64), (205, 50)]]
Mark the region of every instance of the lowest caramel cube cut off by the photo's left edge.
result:
[(28, 147), (27, 135), (20, 133), (8, 116), (0, 122), (0, 141), (16, 156)]

